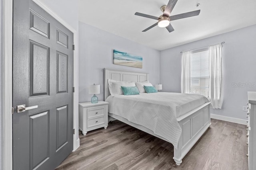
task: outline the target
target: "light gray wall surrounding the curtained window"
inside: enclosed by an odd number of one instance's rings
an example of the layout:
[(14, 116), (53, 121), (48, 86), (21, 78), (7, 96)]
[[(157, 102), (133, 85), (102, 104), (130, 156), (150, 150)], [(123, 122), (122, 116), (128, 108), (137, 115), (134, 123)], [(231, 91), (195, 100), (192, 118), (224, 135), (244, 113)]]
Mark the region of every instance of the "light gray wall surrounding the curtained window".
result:
[[(222, 57), (224, 100), (222, 109), (211, 109), (211, 113), (246, 119), (246, 112), (242, 111), (242, 106), (246, 106), (247, 91), (256, 91), (256, 25), (161, 51), (160, 82), (163, 91), (180, 92), (180, 51), (222, 41), (226, 42), (223, 45)], [(234, 87), (234, 83), (240, 87)], [(251, 87), (243, 87), (244, 83), (250, 83)]]

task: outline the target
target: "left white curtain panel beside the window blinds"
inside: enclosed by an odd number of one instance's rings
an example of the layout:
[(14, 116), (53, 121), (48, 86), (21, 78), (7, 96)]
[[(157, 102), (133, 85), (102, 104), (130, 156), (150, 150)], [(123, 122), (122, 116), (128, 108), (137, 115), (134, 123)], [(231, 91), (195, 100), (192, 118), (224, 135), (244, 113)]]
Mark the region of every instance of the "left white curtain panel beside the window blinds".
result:
[(182, 53), (181, 92), (190, 93), (190, 51)]

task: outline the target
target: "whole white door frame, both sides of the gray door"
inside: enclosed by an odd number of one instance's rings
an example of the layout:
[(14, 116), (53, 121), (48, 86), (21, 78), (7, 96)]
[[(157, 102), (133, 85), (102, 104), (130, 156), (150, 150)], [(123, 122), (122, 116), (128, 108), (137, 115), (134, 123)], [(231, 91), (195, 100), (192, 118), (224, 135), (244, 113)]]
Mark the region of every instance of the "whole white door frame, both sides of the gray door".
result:
[[(67, 27), (74, 35), (74, 77), (73, 86), (75, 92), (73, 93), (73, 128), (75, 129), (75, 134), (73, 135), (73, 151), (75, 151), (80, 146), (79, 131), (78, 131), (78, 38), (77, 31), (71, 27), (66, 21), (60, 18), (55, 12), (53, 12), (48, 6), (42, 3), (40, 0), (33, 0), (46, 12), (48, 12), (53, 18), (62, 23)], [(13, 13), (13, 2), (12, 0), (3, 0), (3, 64), (2, 69), (2, 167), (3, 169), (12, 169), (12, 13)]]

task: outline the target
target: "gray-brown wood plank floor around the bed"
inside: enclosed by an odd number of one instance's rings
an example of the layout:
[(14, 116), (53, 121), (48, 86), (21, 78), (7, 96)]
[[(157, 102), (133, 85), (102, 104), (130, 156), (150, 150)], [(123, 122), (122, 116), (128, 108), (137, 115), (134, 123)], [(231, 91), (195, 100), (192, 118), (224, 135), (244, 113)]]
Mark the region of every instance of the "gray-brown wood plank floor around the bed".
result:
[(172, 144), (113, 121), (107, 129), (80, 132), (80, 147), (56, 170), (248, 170), (246, 126), (211, 121), (180, 166)]

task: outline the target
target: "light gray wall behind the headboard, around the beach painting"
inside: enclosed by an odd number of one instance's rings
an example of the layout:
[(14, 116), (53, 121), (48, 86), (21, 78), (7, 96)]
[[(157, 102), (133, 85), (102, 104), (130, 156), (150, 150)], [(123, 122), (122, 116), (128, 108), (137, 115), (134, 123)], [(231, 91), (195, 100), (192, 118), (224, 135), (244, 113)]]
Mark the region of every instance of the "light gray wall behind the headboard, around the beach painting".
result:
[[(142, 56), (142, 68), (113, 64), (113, 49)], [(88, 94), (88, 86), (94, 83), (100, 84), (97, 96), (104, 100), (103, 68), (149, 72), (150, 82), (158, 84), (160, 52), (79, 22), (79, 102), (90, 102), (92, 95)]]

